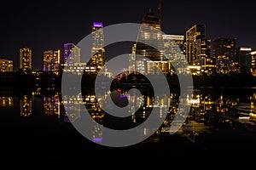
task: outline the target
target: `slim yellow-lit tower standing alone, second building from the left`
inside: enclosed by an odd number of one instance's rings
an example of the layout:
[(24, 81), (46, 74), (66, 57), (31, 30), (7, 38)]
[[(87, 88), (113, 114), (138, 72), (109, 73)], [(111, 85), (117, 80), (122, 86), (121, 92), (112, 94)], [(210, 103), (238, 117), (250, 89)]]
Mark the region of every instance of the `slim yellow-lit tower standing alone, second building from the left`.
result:
[(22, 71), (32, 70), (32, 50), (31, 48), (20, 48), (20, 69)]

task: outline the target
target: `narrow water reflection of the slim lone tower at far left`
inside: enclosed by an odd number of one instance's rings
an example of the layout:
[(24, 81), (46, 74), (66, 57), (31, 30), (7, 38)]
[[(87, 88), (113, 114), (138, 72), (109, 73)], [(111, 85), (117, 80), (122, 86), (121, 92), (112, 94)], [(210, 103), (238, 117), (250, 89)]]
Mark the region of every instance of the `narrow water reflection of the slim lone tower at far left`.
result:
[(32, 98), (28, 95), (20, 97), (20, 116), (32, 116)]

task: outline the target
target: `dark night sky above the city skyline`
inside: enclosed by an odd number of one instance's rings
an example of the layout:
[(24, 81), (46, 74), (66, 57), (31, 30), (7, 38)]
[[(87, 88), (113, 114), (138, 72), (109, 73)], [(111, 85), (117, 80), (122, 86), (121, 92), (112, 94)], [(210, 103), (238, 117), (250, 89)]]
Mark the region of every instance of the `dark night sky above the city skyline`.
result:
[[(33, 69), (41, 69), (44, 50), (62, 52), (64, 43), (78, 43), (90, 34), (93, 21), (102, 21), (104, 26), (139, 23), (148, 8), (156, 12), (158, 3), (159, 0), (7, 1), (0, 10), (0, 58), (14, 59), (17, 70), (19, 48), (27, 46), (32, 48)], [(205, 24), (209, 38), (236, 37), (237, 47), (256, 49), (253, 1), (163, 0), (162, 14), (166, 33), (184, 34), (194, 24)]]

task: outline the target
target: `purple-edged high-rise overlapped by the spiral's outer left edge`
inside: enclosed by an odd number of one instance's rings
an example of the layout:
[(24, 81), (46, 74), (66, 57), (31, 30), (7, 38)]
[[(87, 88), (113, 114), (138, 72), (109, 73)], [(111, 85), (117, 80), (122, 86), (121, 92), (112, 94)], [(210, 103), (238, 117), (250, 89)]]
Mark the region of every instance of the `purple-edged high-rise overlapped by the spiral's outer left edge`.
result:
[(64, 44), (64, 64), (80, 63), (80, 48), (73, 43)]

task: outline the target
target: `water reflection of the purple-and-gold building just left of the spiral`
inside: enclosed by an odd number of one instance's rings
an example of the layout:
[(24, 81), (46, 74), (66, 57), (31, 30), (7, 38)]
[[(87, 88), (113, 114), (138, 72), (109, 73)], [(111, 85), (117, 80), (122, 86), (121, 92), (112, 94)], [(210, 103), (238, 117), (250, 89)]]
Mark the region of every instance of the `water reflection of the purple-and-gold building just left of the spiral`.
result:
[(60, 95), (55, 94), (52, 96), (43, 97), (44, 114), (48, 116), (61, 116)]

